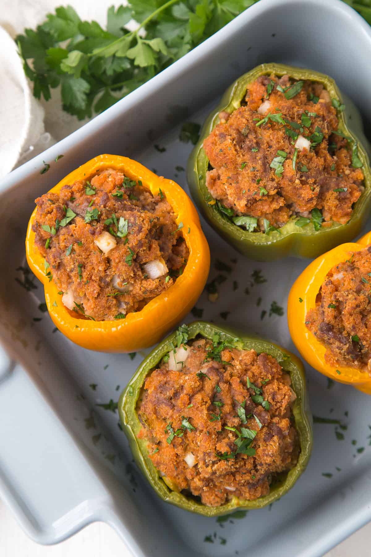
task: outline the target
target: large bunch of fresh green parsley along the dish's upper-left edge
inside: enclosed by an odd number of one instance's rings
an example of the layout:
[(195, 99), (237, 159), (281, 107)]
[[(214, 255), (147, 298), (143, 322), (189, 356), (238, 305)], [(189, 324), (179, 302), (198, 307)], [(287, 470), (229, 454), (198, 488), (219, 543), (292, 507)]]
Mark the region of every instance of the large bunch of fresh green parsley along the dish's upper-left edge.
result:
[[(101, 113), (150, 80), (257, 0), (130, 0), (111, 6), (107, 26), (82, 21), (71, 6), (48, 13), (16, 37), (33, 95), (61, 86), (63, 109), (78, 119)], [(126, 26), (138, 22), (135, 31)]]

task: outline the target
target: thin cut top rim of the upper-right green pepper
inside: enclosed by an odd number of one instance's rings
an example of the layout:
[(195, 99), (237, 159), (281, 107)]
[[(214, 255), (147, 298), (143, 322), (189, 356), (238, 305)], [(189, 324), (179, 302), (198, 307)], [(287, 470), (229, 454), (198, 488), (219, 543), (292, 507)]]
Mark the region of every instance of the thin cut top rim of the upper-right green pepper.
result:
[[(262, 247), (263, 249), (269, 246), (274, 249), (275, 246), (278, 246), (280, 243), (283, 243), (286, 240), (290, 241), (290, 247), (295, 248), (295, 242), (301, 242), (304, 238), (314, 237), (314, 235), (316, 237), (316, 241), (319, 244), (320, 240), (323, 241), (324, 238), (331, 238), (331, 240), (333, 240), (332, 236), (334, 233), (343, 231), (343, 235), (347, 234), (347, 228), (349, 229), (348, 237), (349, 239), (351, 239), (356, 236), (357, 233), (359, 233), (360, 227), (362, 226), (363, 218), (365, 218), (364, 213), (367, 210), (368, 204), (371, 202), (371, 173), (369, 169), (368, 154), (354, 132), (349, 129), (345, 121), (347, 108), (345, 108), (342, 113), (337, 114), (337, 118), (339, 120), (338, 129), (345, 135), (350, 136), (358, 145), (358, 155), (363, 163), (363, 184), (365, 187), (364, 192), (355, 203), (352, 216), (347, 223), (340, 224), (332, 222), (332, 226), (322, 227), (319, 231), (315, 231), (313, 223), (309, 223), (305, 227), (295, 226), (296, 218), (294, 216), (291, 216), (288, 223), (284, 224), (284, 226), (280, 228), (280, 232), (271, 232), (270, 234), (265, 234), (263, 232), (248, 232), (245, 231), (243, 228), (237, 226), (236, 224), (231, 223), (227, 218), (224, 218), (213, 206), (210, 206), (206, 201), (206, 197), (209, 194), (209, 190), (206, 187), (206, 172), (209, 159), (207, 159), (206, 153), (202, 146), (204, 139), (216, 126), (217, 121), (219, 120), (219, 113), (221, 111), (232, 113), (234, 110), (239, 108), (241, 99), (244, 95), (244, 91), (246, 91), (246, 86), (250, 82), (253, 82), (257, 77), (260, 77), (262, 75), (270, 75), (271, 73), (277, 76), (288, 74), (291, 78), (296, 80), (302, 79), (320, 82), (329, 92), (330, 97), (334, 97), (335, 99), (337, 99), (340, 104), (342, 104), (343, 102), (342, 96), (337, 85), (335, 84), (335, 81), (331, 77), (313, 70), (300, 69), (298, 67), (287, 66), (278, 63), (266, 63), (255, 67), (250, 72), (239, 77), (239, 79), (234, 81), (229, 89), (227, 89), (224, 96), (222, 97), (220, 105), (217, 107), (217, 109), (212, 111), (212, 113), (205, 121), (205, 124), (201, 130), (200, 140), (195, 146), (189, 160), (189, 167), (187, 170), (189, 182), (191, 188), (196, 189), (199, 194), (198, 198), (202, 212), (204, 213), (207, 220), (211, 223), (211, 225), (214, 227), (216, 226), (220, 233), (225, 233), (236, 243), (242, 243), (246, 246), (255, 246), (256, 244), (259, 244), (260, 247)], [(360, 222), (358, 223), (357, 221)], [(358, 228), (350, 228), (350, 224), (355, 223), (358, 224)], [(343, 240), (345, 240), (345, 238), (343, 238)], [(318, 252), (316, 253), (316, 255), (318, 255)]]

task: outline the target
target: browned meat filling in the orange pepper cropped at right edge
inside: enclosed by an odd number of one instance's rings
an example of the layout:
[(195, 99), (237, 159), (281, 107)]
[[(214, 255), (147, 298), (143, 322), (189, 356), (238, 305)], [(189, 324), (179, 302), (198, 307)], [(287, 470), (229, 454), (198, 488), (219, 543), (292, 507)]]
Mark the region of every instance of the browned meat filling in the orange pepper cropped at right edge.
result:
[(325, 360), (371, 374), (371, 247), (329, 271), (305, 324), (327, 349)]

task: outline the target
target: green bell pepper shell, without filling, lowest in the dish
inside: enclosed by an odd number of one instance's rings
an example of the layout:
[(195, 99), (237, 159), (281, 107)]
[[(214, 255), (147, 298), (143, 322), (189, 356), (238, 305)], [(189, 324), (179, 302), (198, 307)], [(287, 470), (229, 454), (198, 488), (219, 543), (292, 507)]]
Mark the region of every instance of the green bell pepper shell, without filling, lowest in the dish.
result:
[[(270, 354), (276, 358), (283, 369), (290, 374), (291, 387), (296, 394), (296, 400), (293, 404), (293, 415), (295, 419), (295, 427), (298, 432), (300, 443), (300, 455), (298, 463), (289, 472), (280, 475), (279, 478), (271, 485), (270, 492), (264, 497), (254, 501), (240, 500), (234, 497), (227, 504), (219, 507), (209, 507), (197, 501), (195, 497), (186, 496), (182, 492), (172, 491), (164, 478), (161, 478), (159, 471), (152, 463), (148, 451), (146, 439), (138, 439), (138, 433), (142, 427), (136, 412), (138, 399), (141, 397), (142, 388), (144, 386), (147, 375), (156, 369), (161, 359), (171, 351), (176, 345), (176, 332), (172, 333), (145, 358), (138, 367), (135, 375), (123, 390), (120, 400), (118, 401), (118, 413), (123, 431), (126, 433), (130, 447), (138, 466), (141, 468), (147, 480), (162, 500), (173, 505), (196, 512), (204, 516), (219, 516), (231, 512), (235, 509), (261, 509), (266, 505), (280, 499), (286, 491), (288, 491), (298, 479), (300, 474), (304, 472), (308, 463), (312, 444), (311, 417), (306, 402), (306, 385), (303, 364), (293, 354), (284, 350), (280, 346), (273, 344), (267, 340), (257, 338), (250, 335), (240, 335), (237, 331), (227, 328), (221, 328), (204, 321), (195, 321), (188, 325), (189, 339), (194, 339), (197, 335), (205, 339), (212, 340), (215, 334), (220, 335), (221, 340), (227, 340), (234, 344), (236, 348), (251, 350), (257, 353)], [(165, 478), (166, 480), (166, 478)]]

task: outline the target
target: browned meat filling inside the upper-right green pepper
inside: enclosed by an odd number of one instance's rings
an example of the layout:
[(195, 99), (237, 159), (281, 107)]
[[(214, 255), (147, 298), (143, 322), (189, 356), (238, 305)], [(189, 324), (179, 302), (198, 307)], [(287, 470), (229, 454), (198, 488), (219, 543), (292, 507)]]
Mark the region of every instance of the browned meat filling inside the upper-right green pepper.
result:
[[(282, 90), (290, 85), (286, 94), (299, 92), (286, 99)], [(262, 76), (248, 86), (243, 104), (231, 115), (220, 113), (204, 141), (211, 165), (206, 185), (222, 211), (253, 217), (250, 231), (266, 232), (269, 223), (279, 228), (291, 215), (316, 217), (319, 226), (348, 222), (363, 173), (352, 167), (353, 143), (332, 133), (337, 111), (323, 85)]]

